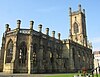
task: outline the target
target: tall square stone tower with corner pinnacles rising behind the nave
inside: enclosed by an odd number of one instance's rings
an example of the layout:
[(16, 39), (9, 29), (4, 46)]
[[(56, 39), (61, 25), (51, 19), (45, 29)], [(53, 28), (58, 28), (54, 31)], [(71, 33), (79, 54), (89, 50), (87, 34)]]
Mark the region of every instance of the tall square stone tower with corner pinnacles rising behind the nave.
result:
[(85, 9), (78, 6), (78, 11), (73, 11), (69, 8), (70, 16), (70, 39), (87, 47), (87, 33), (85, 21)]

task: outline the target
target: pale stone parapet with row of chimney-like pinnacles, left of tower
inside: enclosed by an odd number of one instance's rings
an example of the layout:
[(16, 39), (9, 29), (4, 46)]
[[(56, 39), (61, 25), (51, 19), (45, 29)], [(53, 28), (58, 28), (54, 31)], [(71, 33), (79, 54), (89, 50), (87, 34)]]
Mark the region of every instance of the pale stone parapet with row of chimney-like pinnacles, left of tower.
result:
[[(11, 33), (14, 34), (14, 32), (18, 33), (16, 31), (19, 31), (19, 33), (30, 34), (30, 31), (31, 32), (33, 31), (34, 32), (33, 34), (36, 34), (36, 35), (39, 35), (39, 33), (42, 33), (42, 26), (43, 26), (42, 24), (38, 25), (38, 31), (34, 30), (33, 25), (34, 25), (34, 21), (31, 20), (30, 21), (30, 28), (29, 29), (23, 29), (23, 28), (21, 28), (21, 20), (17, 20), (17, 28), (11, 30), (11, 28), (9, 28), (9, 24), (6, 24), (5, 25), (6, 26), (6, 31), (5, 32), (6, 32), (6, 34), (11, 34)], [(42, 34), (44, 34), (44, 33), (42, 33)], [(46, 28), (46, 32), (45, 32), (44, 35), (49, 36), (49, 28)], [(60, 36), (61, 36), (61, 34), (58, 33), (58, 40), (60, 40)], [(55, 31), (52, 31), (52, 36), (51, 37), (55, 38)]]

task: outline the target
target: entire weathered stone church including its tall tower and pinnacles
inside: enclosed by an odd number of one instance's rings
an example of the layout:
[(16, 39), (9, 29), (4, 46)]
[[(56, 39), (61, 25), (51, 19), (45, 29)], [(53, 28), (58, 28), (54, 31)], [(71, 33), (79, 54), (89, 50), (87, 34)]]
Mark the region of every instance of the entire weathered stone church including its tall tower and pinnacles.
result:
[(55, 38), (55, 31), (49, 36), (49, 28), (42, 33), (33, 28), (21, 28), (21, 20), (17, 20), (17, 28), (11, 30), (6, 24), (2, 37), (1, 70), (5, 73), (54, 73), (75, 72), (82, 68), (93, 68), (91, 44), (87, 41), (85, 10), (78, 6), (78, 11), (69, 8), (70, 35), (61, 40), (60, 33)]

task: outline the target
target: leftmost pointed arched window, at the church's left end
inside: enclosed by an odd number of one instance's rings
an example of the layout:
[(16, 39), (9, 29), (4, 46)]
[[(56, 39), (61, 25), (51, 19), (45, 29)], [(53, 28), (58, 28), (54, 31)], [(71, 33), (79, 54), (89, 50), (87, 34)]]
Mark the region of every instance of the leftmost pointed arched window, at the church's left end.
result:
[(10, 63), (13, 56), (13, 41), (10, 40), (7, 45), (7, 51), (6, 51), (6, 63)]

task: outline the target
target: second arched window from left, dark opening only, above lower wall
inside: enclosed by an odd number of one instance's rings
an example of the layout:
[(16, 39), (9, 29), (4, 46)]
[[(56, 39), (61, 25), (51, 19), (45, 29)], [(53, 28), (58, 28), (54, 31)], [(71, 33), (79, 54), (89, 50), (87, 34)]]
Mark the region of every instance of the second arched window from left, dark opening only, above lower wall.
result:
[(27, 46), (25, 42), (22, 42), (20, 44), (19, 48), (19, 64), (25, 64), (26, 63), (26, 56), (27, 56)]

